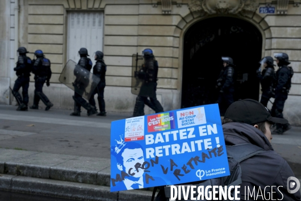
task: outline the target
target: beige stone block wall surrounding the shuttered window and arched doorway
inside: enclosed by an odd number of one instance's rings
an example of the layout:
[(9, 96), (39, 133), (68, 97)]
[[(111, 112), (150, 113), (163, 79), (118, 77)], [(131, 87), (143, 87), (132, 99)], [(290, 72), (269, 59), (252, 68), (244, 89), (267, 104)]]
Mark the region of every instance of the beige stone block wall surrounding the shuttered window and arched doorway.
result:
[[(12, 0), (13, 1), (13, 0)], [(201, 3), (207, 3), (204, 7)], [(221, 9), (216, 1), (208, 0), (23, 0), (20, 1), (19, 43), (33, 57), (42, 49), (52, 62), (51, 86), (44, 87), (56, 108), (72, 108), (72, 91), (58, 81), (66, 63), (68, 11), (104, 12), (104, 60), (108, 65), (105, 88), (106, 108), (109, 112), (133, 111), (135, 95), (130, 93), (131, 56), (152, 48), (159, 62), (158, 99), (164, 109), (180, 108), (183, 67), (183, 38), (194, 23), (216, 16), (231, 16), (246, 20), (262, 33), (262, 56), (286, 52), (295, 71), (284, 114), (300, 124), (301, 111), (295, 110), (301, 100), (301, 9), (295, 1), (287, 8), (277, 4), (275, 14), (260, 14), (259, 7), (270, 1), (226, 1), (230, 9)], [(237, 2), (245, 2), (235, 7)], [(164, 4), (163, 4), (164, 3)], [(272, 2), (274, 3), (274, 2)], [(226, 7), (227, 7), (226, 6)], [(13, 68), (11, 63), (11, 68)], [(9, 70), (8, 70), (9, 71)], [(12, 73), (9, 75), (14, 79)], [(33, 76), (32, 79), (33, 81)], [(11, 81), (11, 85), (14, 80)], [(30, 86), (30, 104), (33, 100)], [(145, 113), (150, 113), (145, 107)]]

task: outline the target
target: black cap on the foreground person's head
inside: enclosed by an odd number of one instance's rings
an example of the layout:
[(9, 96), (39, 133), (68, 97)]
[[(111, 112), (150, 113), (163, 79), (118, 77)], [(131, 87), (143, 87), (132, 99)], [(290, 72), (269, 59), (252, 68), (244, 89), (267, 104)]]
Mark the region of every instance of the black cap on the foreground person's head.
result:
[(249, 125), (266, 121), (276, 124), (288, 123), (286, 119), (272, 117), (266, 107), (253, 99), (243, 99), (234, 102), (227, 109), (224, 118)]

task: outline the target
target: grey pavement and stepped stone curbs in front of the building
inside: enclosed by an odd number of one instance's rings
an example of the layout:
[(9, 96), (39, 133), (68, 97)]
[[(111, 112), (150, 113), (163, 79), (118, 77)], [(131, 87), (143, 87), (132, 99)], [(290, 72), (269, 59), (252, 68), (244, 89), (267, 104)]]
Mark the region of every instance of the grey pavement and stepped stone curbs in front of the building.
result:
[[(0, 106), (0, 190), (87, 200), (149, 200), (152, 192), (110, 192), (110, 123), (128, 116), (71, 117), (70, 111)], [(272, 145), (301, 178), (301, 128)]]

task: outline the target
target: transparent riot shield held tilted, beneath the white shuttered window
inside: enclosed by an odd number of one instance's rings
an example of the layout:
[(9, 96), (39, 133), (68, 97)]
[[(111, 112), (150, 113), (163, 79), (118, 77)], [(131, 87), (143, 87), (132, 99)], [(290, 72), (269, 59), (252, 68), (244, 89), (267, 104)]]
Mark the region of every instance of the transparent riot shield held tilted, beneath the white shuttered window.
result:
[(100, 81), (100, 78), (74, 61), (68, 60), (60, 75), (59, 81), (88, 100)]

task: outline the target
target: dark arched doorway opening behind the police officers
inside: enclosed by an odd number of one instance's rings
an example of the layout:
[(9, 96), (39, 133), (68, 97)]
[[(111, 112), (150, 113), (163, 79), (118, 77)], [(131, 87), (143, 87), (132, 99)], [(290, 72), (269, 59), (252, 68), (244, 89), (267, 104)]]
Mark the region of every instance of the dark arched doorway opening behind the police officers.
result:
[(235, 67), (234, 100), (258, 100), (262, 36), (252, 24), (237, 18), (215, 17), (195, 23), (184, 36), (182, 108), (217, 102), (215, 89), (222, 56)]

